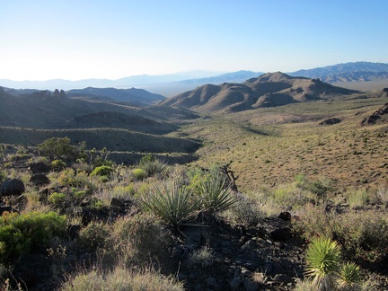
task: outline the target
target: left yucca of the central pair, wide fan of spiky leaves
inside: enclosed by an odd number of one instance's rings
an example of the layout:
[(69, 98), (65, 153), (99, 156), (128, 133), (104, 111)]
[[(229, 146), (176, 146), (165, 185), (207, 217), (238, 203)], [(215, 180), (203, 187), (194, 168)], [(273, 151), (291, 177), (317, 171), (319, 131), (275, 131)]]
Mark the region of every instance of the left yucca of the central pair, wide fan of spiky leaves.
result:
[(192, 200), (192, 191), (177, 182), (164, 183), (162, 189), (154, 186), (153, 190), (139, 198), (139, 204), (173, 226), (180, 226), (198, 210)]

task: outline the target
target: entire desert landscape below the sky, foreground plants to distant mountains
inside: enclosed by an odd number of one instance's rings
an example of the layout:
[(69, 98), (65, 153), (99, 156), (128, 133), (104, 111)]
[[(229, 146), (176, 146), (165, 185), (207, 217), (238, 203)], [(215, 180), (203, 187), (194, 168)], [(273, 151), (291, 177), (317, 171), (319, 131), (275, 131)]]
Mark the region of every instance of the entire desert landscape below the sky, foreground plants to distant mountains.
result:
[(0, 287), (388, 288), (388, 64), (128, 80), (0, 80)]

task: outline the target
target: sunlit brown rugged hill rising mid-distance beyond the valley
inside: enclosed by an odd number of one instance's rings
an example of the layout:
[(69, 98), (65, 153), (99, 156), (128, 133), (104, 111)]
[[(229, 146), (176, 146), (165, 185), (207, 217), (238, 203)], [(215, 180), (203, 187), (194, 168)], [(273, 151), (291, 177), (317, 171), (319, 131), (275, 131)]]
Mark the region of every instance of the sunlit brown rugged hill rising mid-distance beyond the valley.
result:
[(181, 93), (161, 104), (197, 111), (236, 112), (295, 102), (343, 98), (357, 93), (322, 83), (318, 79), (293, 77), (280, 72), (260, 75), (242, 84), (206, 84)]

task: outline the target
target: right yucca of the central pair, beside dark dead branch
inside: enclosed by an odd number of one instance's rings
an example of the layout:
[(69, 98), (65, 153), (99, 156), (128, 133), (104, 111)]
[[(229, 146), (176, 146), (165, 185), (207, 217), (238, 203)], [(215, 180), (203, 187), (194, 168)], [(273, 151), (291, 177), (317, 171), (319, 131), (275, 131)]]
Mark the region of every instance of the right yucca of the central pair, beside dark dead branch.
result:
[[(225, 187), (226, 185), (226, 187)], [(201, 209), (218, 212), (234, 207), (238, 199), (231, 195), (226, 177), (219, 171), (205, 175), (196, 185), (198, 203)]]

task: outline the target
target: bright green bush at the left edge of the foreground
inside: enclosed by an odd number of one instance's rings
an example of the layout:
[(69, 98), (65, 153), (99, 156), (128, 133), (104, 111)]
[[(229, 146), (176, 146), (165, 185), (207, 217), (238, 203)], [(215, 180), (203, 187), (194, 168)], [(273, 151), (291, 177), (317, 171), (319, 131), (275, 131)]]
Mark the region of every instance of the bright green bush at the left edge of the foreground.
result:
[(39, 245), (48, 244), (54, 236), (65, 232), (66, 216), (59, 216), (55, 212), (5, 214), (0, 220), (2, 259), (17, 258)]

